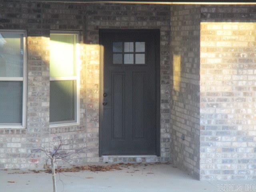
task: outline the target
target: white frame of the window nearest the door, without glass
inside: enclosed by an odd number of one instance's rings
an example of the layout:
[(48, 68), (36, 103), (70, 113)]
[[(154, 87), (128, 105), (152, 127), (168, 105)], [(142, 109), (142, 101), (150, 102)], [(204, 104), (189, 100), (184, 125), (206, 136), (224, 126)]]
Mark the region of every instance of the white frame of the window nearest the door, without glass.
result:
[(59, 30), (50, 30), (50, 34), (73, 34), (76, 36), (76, 76), (69, 77), (50, 77), (50, 81), (59, 81), (59, 80), (76, 80), (76, 122), (49, 122), (50, 128), (52, 127), (63, 127), (63, 126), (78, 126), (80, 125), (80, 38), (78, 31), (59, 31)]

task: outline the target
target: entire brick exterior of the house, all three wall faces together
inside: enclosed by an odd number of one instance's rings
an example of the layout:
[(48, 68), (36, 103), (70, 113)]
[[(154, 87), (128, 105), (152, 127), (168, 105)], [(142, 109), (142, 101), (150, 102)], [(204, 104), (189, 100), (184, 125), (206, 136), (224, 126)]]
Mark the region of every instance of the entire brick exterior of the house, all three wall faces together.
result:
[[(28, 154), (61, 136), (88, 149), (77, 164), (172, 160), (200, 179), (255, 179), (255, 10), (0, 2), (0, 29), (28, 34), (27, 128), (0, 129), (0, 168), (42, 168)], [(99, 28), (160, 29), (160, 157), (98, 157)], [(80, 126), (49, 128), (50, 30), (80, 32)]]

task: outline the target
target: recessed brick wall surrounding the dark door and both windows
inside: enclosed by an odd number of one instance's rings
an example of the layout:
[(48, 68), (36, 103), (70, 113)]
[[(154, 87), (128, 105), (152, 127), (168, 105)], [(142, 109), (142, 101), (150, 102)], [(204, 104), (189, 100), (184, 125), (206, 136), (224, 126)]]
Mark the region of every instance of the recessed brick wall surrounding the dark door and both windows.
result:
[[(72, 163), (170, 160), (169, 12), (167, 5), (0, 2), (0, 29), (24, 29), (28, 34), (27, 128), (0, 130), (0, 168), (42, 168), (44, 156), (28, 154), (53, 142), (56, 136), (61, 136), (72, 148), (88, 149)], [(160, 157), (98, 157), (99, 28), (160, 29)], [(50, 30), (80, 32), (80, 126), (49, 128)]]

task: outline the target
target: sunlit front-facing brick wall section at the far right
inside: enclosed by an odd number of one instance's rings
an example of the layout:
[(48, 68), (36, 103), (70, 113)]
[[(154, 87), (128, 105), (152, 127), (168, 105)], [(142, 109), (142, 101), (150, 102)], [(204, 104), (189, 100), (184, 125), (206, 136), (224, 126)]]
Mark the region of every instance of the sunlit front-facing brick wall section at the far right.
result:
[(255, 10), (201, 7), (201, 179), (255, 179)]

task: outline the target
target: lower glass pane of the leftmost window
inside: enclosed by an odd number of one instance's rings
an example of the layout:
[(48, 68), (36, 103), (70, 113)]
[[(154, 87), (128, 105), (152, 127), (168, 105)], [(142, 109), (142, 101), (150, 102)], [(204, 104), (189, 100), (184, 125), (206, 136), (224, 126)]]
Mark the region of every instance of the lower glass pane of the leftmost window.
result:
[(22, 125), (23, 82), (0, 82), (0, 125)]

